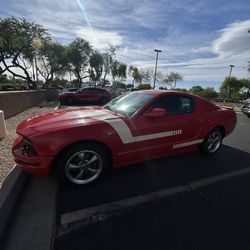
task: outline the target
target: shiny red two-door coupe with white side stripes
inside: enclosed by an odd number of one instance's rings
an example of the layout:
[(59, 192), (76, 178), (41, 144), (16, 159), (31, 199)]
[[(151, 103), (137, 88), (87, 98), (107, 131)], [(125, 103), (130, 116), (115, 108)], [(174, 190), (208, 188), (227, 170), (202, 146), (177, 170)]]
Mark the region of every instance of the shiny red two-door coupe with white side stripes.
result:
[(137, 91), (104, 107), (61, 109), (23, 121), (13, 144), (23, 170), (84, 185), (109, 168), (200, 149), (212, 155), (236, 125), (233, 110), (174, 91)]

